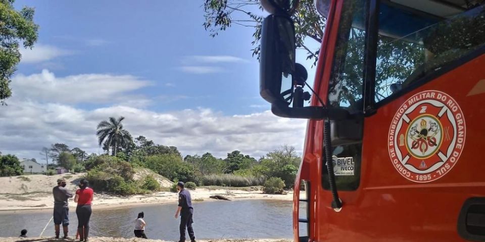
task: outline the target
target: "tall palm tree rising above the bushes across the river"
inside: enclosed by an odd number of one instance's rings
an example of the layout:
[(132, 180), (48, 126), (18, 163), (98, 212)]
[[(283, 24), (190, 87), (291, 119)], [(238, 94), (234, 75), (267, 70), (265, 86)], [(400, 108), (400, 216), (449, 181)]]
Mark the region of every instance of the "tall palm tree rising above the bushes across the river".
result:
[(103, 120), (97, 128), (96, 136), (98, 136), (99, 145), (104, 142), (105, 147), (110, 148), (112, 155), (116, 155), (118, 147), (126, 147), (131, 143), (131, 135), (127, 130), (123, 129), (123, 121), (125, 117), (120, 116), (118, 119), (110, 117), (109, 121)]

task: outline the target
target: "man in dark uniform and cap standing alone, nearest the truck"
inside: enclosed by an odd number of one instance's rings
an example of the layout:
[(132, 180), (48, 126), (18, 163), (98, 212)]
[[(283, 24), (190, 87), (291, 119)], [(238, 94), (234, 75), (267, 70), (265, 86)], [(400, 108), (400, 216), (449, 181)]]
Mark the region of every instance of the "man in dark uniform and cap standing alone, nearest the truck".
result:
[(190, 198), (190, 193), (183, 188), (182, 181), (179, 181), (177, 183), (177, 190), (179, 191), (178, 208), (177, 208), (177, 212), (175, 213), (175, 218), (178, 218), (178, 214), (180, 213), (179, 242), (185, 242), (185, 227), (187, 227), (188, 236), (190, 237), (190, 242), (195, 242), (196, 236), (193, 235), (193, 228), (192, 228), (193, 207), (192, 207), (192, 199)]

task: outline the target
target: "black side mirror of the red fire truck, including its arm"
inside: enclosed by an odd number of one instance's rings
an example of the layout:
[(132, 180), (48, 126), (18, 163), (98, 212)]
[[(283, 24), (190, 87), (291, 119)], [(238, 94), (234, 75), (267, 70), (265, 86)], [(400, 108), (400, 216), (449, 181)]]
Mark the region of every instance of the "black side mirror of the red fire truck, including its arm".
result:
[[(303, 92), (307, 73), (295, 63), (295, 25), (285, 14), (273, 14), (263, 21), (260, 55), (260, 95), (281, 117), (345, 119), (342, 108), (303, 107), (309, 94)], [(289, 105), (293, 102), (293, 107)]]

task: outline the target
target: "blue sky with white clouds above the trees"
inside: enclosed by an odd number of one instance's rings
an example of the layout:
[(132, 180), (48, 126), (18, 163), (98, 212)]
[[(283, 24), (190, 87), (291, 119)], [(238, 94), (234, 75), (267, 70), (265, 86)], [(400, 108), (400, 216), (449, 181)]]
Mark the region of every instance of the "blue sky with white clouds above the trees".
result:
[[(3, 153), (38, 157), (56, 142), (102, 152), (93, 133), (110, 115), (126, 116), (133, 136), (178, 146), (184, 155), (303, 148), (306, 121), (275, 117), (259, 96), (254, 30), (234, 25), (210, 37), (202, 1), (17, 0), (15, 6), (35, 7), (40, 30), (35, 47), (21, 51), (14, 96), (2, 107), (0, 121), (19, 120), (0, 131), (11, 141), (0, 144)], [(315, 70), (308, 71), (313, 82)], [(38, 140), (26, 147), (32, 135)]]

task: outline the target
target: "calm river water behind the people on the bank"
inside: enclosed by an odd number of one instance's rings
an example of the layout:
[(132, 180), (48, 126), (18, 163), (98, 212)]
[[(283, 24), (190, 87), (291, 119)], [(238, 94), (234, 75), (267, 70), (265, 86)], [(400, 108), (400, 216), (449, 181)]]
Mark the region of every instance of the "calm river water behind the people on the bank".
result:
[[(193, 229), (197, 238), (292, 238), (292, 202), (271, 200), (214, 201), (193, 204)], [(96, 210), (90, 220), (92, 236), (133, 237), (133, 220), (145, 214), (149, 238), (176, 241), (180, 218), (175, 219), (175, 204)], [(70, 235), (75, 235), (77, 217), (69, 211)], [(52, 210), (0, 213), (0, 237), (18, 236), (26, 228), (28, 236), (38, 236)], [(62, 230), (62, 228), (61, 228)], [(62, 234), (62, 231), (61, 231)], [(54, 236), (54, 224), (43, 236)]]

